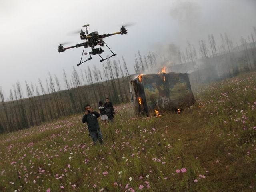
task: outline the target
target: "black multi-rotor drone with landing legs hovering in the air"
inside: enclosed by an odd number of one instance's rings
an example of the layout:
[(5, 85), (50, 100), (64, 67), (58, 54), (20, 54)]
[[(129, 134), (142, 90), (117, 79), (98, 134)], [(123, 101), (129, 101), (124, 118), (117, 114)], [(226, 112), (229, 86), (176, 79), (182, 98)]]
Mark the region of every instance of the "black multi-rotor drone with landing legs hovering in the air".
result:
[[(84, 25), (83, 27), (86, 28), (86, 31), (84, 32), (81, 29), (81, 32), (80, 32), (80, 39), (85, 40), (86, 42), (83, 42), (83, 43), (80, 43), (80, 44), (76, 44), (74, 46), (66, 47), (66, 48), (64, 48), (63, 45), (60, 44), (59, 47), (58, 47), (58, 52), (59, 53), (60, 52), (64, 52), (65, 50), (71, 49), (71, 48), (74, 48), (74, 47), (84, 47), (85, 52), (84, 52), (84, 49), (83, 49), (80, 62), (77, 64), (77, 66), (79, 66), (80, 64), (82, 64), (82, 63), (84, 63), (86, 61), (91, 60), (92, 59), (92, 55), (99, 55), (100, 56), (100, 54), (102, 54), (104, 52), (104, 50), (101, 47), (104, 47), (105, 45), (108, 47), (108, 45), (103, 40), (105, 37), (109, 37), (109, 36), (117, 35), (117, 34), (121, 34), (121, 35), (127, 34), (127, 29), (123, 25), (122, 25), (122, 27), (120, 29), (120, 32), (115, 32), (115, 33), (110, 33), (110, 34), (107, 33), (107, 34), (103, 34), (103, 35), (99, 35), (98, 31), (94, 31), (94, 32), (88, 34), (88, 30), (87, 30), (88, 26), (89, 26), (89, 24)], [(97, 45), (99, 45), (100, 48), (95, 48)], [(90, 57), (87, 60), (82, 62), (82, 57), (83, 57), (84, 54), (85, 55), (87, 54), (86, 48), (88, 48), (88, 47), (91, 47), (91, 49), (92, 49), (92, 51), (89, 52)], [(108, 47), (108, 49), (112, 52), (112, 50), (109, 47)], [(112, 52), (112, 56), (110, 56), (110, 57), (114, 57), (114, 56), (116, 56), (116, 54), (114, 54), (114, 52)], [(108, 57), (108, 58), (110, 58), (110, 57)], [(100, 62), (108, 59), (108, 58), (103, 59), (102, 56), (100, 56), (100, 58), (101, 58)]]

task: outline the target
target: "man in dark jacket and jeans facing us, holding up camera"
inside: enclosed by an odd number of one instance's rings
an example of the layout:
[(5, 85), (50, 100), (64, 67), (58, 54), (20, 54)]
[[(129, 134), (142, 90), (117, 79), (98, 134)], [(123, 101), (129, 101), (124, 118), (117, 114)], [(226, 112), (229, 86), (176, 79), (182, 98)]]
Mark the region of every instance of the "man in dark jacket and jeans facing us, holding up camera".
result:
[(94, 111), (90, 105), (84, 106), (85, 114), (82, 118), (82, 123), (87, 123), (89, 135), (92, 138), (94, 145), (96, 145), (97, 140), (99, 140), (100, 144), (103, 144), (103, 136), (100, 131), (100, 125), (98, 119), (100, 114)]

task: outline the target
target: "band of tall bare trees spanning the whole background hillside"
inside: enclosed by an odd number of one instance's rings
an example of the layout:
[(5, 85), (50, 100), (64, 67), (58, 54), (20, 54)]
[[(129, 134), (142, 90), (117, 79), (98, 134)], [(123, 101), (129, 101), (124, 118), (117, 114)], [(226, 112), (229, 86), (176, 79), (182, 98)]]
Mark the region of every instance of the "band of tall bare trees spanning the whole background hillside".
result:
[[(256, 70), (255, 27), (247, 38), (241, 37), (239, 44), (234, 45), (227, 34), (220, 34), (220, 42), (216, 44), (213, 34), (207, 40), (200, 40), (197, 49), (188, 41), (184, 51), (170, 49), (169, 59), (154, 52), (142, 56), (138, 51), (134, 60), (135, 73), (157, 71), (167, 66), (168, 72), (188, 72), (193, 86)], [(70, 79), (63, 70), (65, 90), (61, 90), (59, 78), (50, 73), (45, 79), (46, 86), (40, 79), (38, 84), (26, 82), (25, 88), (17, 82), (8, 97), (0, 89), (0, 133), (81, 113), (85, 104), (98, 109), (98, 102), (104, 102), (105, 98), (110, 98), (114, 104), (130, 102), (129, 82), (134, 74), (128, 71), (124, 57), (122, 61), (106, 61), (101, 70), (95, 65), (84, 70), (73, 68)]]

